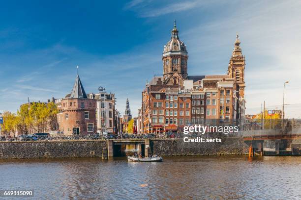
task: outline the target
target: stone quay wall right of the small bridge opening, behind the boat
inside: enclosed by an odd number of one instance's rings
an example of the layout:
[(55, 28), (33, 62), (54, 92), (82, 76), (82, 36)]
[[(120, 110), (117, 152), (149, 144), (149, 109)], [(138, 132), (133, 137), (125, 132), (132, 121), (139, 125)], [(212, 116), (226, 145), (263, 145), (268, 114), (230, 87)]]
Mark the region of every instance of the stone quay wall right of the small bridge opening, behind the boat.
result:
[(176, 155), (241, 155), (248, 153), (242, 138), (222, 138), (221, 143), (185, 143), (183, 139), (151, 139), (152, 154)]

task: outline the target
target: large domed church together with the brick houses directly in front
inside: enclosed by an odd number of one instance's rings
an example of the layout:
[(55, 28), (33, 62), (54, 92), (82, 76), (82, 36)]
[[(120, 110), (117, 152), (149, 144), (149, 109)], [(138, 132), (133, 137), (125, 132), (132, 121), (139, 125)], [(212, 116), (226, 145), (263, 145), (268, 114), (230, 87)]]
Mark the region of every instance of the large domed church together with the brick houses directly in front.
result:
[(188, 75), (188, 51), (174, 22), (162, 53), (163, 75), (142, 91), (140, 133), (179, 133), (185, 125), (244, 122), (245, 57), (236, 36), (224, 75)]

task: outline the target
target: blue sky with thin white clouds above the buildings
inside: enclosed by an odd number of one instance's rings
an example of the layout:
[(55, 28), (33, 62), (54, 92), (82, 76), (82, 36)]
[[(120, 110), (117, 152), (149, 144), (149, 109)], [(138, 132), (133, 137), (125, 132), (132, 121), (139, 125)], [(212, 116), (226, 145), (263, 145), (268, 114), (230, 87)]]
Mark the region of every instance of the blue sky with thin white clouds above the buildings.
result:
[(189, 75), (225, 74), (236, 33), (246, 57), (247, 112), (282, 103), (301, 116), (300, 1), (6, 1), (0, 7), (0, 111), (62, 98), (76, 66), (87, 93), (103, 86), (123, 114), (134, 115), (141, 91), (162, 74), (163, 46), (177, 20)]

